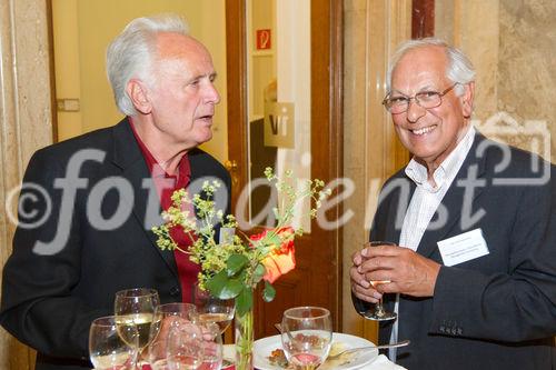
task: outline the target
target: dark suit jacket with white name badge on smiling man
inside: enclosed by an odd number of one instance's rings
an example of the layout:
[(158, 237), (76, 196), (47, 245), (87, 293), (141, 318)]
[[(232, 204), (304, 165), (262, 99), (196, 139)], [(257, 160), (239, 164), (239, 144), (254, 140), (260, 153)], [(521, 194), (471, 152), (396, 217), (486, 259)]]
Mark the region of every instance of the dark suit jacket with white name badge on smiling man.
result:
[[(438, 241), (480, 228), (489, 254), (443, 266), (433, 298), (400, 297), (398, 339), (411, 344), (398, 349), (397, 363), (410, 370), (556, 367), (554, 169), (529, 153), (475, 137), (441, 202), (447, 220), (427, 229), (417, 252), (443, 263)], [(414, 190), (403, 170), (388, 180), (371, 240), (399, 241)], [(393, 309), (395, 294), (385, 300)], [(355, 297), (354, 304), (359, 312), (368, 308)], [(381, 343), (390, 330), (391, 322), (380, 323)]]

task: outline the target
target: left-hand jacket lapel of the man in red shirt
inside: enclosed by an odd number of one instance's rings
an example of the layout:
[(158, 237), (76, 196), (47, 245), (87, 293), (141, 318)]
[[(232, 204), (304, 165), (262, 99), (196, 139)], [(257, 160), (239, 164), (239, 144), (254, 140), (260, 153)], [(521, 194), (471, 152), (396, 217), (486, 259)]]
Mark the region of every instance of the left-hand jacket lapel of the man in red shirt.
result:
[(145, 237), (157, 249), (173, 274), (178, 277), (173, 252), (158, 248), (157, 238), (150, 231), (151, 227), (162, 222), (160, 218), (160, 200), (158, 199), (149, 169), (129, 124), (129, 121), (123, 119), (112, 131), (112, 163), (121, 169), (121, 176), (129, 181), (133, 190), (132, 194), (125, 194), (123, 200), (133, 204), (133, 217), (145, 231)]

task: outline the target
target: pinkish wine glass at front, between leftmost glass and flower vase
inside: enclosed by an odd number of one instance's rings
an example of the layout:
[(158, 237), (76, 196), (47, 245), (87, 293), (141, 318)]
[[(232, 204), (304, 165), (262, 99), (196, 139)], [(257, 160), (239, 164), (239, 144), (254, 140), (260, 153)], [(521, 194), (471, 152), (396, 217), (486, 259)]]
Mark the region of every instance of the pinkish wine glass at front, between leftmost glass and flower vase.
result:
[(168, 333), (167, 369), (219, 370), (222, 351), (220, 328), (216, 323), (180, 321)]

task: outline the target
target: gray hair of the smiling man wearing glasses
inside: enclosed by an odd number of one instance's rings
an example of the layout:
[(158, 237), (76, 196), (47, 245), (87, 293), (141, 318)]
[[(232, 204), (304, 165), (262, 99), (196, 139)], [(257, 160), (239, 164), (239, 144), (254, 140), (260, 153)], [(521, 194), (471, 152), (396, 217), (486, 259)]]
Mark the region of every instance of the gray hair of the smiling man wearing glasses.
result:
[(410, 50), (431, 46), (444, 48), (444, 50), (446, 51), (446, 57), (448, 58), (446, 78), (454, 83), (460, 83), (455, 89), (457, 96), (464, 93), (464, 84), (475, 81), (475, 68), (473, 67), (469, 58), (467, 58), (461, 50), (454, 48), (446, 43), (444, 40), (437, 38), (408, 40), (398, 46), (393, 57), (390, 58), (388, 72), (386, 74), (386, 91), (388, 93), (391, 91), (391, 73), (398, 66), (401, 57), (404, 57)]

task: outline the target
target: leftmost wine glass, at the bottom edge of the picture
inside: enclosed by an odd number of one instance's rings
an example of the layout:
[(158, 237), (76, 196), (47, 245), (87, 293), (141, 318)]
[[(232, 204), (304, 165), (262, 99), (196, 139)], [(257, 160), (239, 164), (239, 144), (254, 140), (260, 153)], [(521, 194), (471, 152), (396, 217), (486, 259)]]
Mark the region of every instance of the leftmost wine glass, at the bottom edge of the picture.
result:
[(135, 327), (118, 328), (113, 316), (95, 319), (89, 329), (92, 366), (95, 369), (132, 369), (137, 341)]

